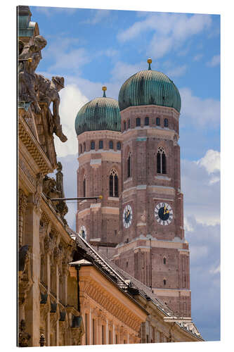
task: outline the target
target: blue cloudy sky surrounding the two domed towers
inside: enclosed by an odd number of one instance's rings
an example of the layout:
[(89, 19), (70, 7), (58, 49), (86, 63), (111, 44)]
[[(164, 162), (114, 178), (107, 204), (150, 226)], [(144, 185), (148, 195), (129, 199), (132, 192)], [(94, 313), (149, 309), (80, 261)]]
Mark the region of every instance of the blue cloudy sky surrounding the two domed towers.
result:
[[(207, 340), (220, 339), (220, 17), (30, 6), (48, 44), (38, 73), (65, 77), (60, 118), (68, 141), (55, 137), (66, 196), (76, 194), (74, 119), (87, 101), (117, 99), (138, 70), (160, 70), (181, 93), (181, 184), (190, 243), (192, 318)], [(74, 227), (74, 204), (67, 220)]]

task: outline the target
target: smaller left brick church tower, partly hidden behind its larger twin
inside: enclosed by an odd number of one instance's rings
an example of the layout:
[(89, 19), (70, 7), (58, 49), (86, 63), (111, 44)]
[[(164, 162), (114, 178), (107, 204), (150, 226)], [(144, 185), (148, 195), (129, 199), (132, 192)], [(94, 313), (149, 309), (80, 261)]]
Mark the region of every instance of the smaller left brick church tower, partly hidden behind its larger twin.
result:
[(77, 196), (99, 196), (102, 201), (77, 204), (77, 232), (110, 256), (119, 243), (119, 194), (122, 191), (119, 104), (103, 97), (86, 103), (77, 113), (79, 146)]

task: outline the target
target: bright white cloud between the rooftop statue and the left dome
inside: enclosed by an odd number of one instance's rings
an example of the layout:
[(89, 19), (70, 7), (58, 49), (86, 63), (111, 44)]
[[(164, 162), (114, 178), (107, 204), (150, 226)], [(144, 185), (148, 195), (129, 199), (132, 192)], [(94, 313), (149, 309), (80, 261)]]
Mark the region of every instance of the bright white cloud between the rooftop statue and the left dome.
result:
[(67, 84), (60, 91), (60, 119), (67, 142), (62, 143), (55, 136), (56, 153), (58, 157), (77, 153), (77, 135), (74, 130), (74, 120), (77, 112), (88, 102), (88, 99), (75, 84)]

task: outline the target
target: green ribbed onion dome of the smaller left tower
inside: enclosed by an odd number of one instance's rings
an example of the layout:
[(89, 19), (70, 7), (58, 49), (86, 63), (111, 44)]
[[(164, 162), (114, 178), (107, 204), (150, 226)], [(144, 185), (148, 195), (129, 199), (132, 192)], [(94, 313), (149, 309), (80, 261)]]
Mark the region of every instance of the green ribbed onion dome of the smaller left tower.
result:
[(74, 127), (77, 136), (86, 131), (110, 130), (120, 132), (120, 111), (117, 100), (105, 96), (106, 87), (103, 87), (103, 97), (86, 103), (78, 111)]

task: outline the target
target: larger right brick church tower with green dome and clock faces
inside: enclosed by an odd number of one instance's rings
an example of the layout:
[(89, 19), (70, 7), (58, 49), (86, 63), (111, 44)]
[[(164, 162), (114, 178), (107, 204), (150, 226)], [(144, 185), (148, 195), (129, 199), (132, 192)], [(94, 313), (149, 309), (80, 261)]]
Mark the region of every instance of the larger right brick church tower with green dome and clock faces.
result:
[(163, 73), (131, 76), (119, 92), (122, 131), (121, 240), (113, 261), (152, 288), (176, 316), (191, 316), (188, 242), (183, 230), (181, 96)]

